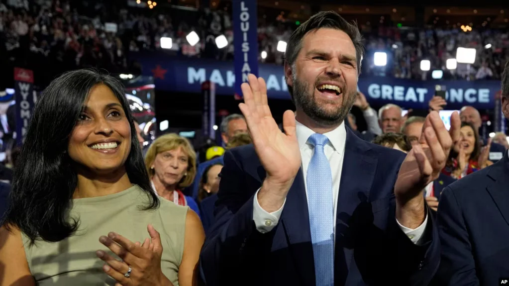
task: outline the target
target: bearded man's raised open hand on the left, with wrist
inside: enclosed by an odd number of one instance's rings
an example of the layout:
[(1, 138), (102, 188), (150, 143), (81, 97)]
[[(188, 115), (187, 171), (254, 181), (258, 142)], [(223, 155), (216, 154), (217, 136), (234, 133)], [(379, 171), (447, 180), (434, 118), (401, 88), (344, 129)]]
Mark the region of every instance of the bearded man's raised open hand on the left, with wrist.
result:
[(253, 74), (249, 74), (248, 79), (249, 83), (241, 85), (244, 103), (240, 103), (239, 108), (246, 118), (254, 150), (267, 172), (258, 201), (265, 211), (274, 212), (285, 202), (300, 168), (295, 114), (291, 110), (285, 112), (285, 132), (281, 132), (267, 103), (265, 81)]

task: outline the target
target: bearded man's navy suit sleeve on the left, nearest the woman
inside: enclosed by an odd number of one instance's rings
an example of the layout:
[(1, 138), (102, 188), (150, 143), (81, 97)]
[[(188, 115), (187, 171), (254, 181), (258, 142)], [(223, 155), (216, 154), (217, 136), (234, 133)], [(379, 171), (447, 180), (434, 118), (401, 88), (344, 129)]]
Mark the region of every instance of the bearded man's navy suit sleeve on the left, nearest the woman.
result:
[(274, 233), (257, 231), (253, 221), (256, 186), (247, 186), (246, 175), (231, 151), (224, 155), (220, 177), (215, 222), (200, 260), (201, 275), (207, 285), (229, 284), (242, 275), (245, 279), (253, 265), (262, 263), (257, 260), (270, 253)]

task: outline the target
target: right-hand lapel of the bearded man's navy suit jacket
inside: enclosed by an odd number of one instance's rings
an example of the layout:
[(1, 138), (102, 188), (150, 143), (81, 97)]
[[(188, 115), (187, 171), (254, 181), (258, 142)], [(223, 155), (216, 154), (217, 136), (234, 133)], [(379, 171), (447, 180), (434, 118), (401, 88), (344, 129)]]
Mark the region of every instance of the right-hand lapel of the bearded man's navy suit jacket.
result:
[[(375, 177), (378, 158), (369, 150), (370, 145), (347, 128), (345, 155), (337, 196), (335, 230), (335, 285), (344, 285), (353, 257), (349, 233), (349, 219), (361, 202), (370, 202), (370, 190)], [(343, 281), (339, 281), (342, 279)]]

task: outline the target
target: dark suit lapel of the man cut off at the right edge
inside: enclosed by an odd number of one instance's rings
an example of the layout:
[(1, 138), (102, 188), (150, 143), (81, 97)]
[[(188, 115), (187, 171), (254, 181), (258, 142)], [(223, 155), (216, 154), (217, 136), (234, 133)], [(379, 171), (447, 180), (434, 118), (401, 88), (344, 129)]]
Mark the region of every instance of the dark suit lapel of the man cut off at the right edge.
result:
[(507, 206), (509, 206), (509, 191), (507, 190), (507, 186), (509, 185), (509, 159), (507, 157), (507, 151), (503, 158), (493, 165), (487, 176), (494, 180), (494, 182), (487, 187), (487, 190), (505, 219), (505, 222), (509, 224), (509, 208), (507, 208)]

